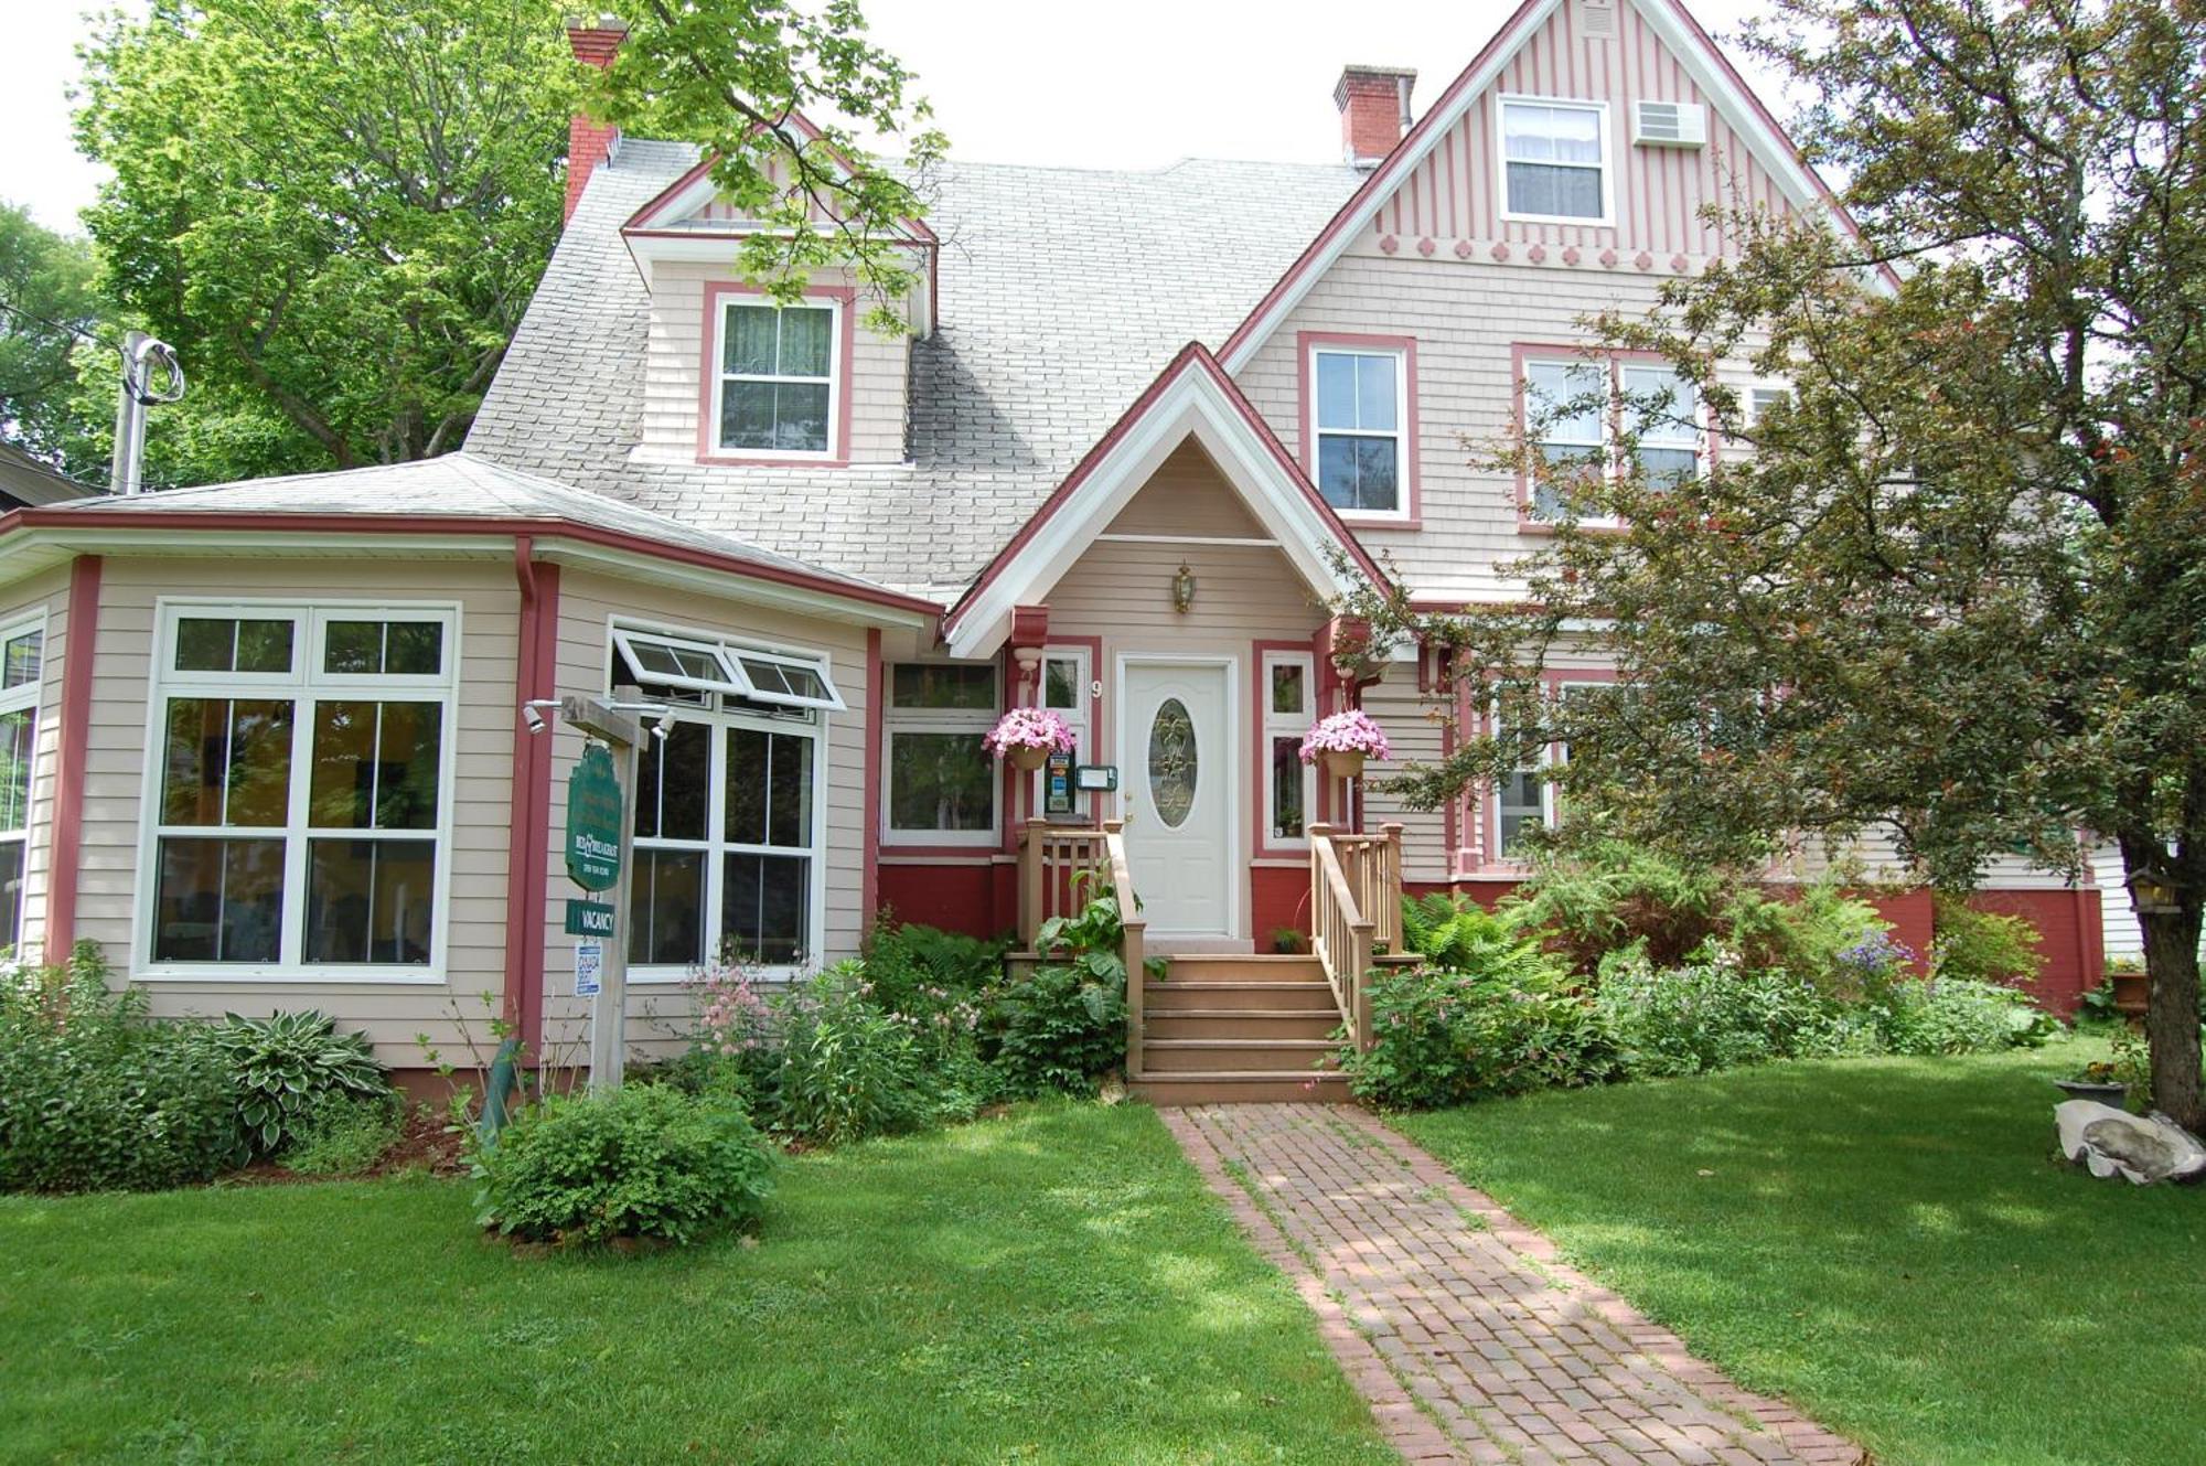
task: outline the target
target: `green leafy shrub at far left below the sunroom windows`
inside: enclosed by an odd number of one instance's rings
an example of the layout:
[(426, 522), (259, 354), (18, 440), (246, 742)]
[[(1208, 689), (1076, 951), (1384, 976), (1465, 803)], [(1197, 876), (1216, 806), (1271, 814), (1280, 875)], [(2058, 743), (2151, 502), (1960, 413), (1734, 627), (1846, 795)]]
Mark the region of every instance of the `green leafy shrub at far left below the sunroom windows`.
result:
[(90, 943), (0, 967), (0, 1190), (159, 1190), (245, 1161), (221, 1055), (106, 978)]

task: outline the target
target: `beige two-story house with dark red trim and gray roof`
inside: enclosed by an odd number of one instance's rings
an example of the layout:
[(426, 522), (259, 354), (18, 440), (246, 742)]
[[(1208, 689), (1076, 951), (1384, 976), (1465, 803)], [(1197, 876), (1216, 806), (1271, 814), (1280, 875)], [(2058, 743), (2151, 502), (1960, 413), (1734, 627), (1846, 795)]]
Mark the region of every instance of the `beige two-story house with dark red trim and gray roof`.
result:
[[(0, 938), (95, 938), (157, 1011), (322, 1007), (397, 1064), (485, 1000), (558, 1049), (580, 740), (521, 709), (615, 684), (671, 709), (640, 1022), (715, 954), (796, 971), (882, 907), (1013, 927), (1030, 819), (1123, 819), (1167, 954), (1308, 929), (1319, 824), (1401, 821), (1412, 888), (1507, 888), (1553, 817), (1531, 771), (1418, 812), (1295, 757), (1350, 704), (1443, 751), (1429, 660), (1343, 680), (1328, 601), (1381, 554), (1425, 603), (1516, 594), (1544, 506), (1476, 444), (1588, 371), (1586, 311), (1725, 252), (1701, 205), (1833, 201), (1677, 0), (1527, 0), (1423, 113), (1412, 84), (1343, 71), (1337, 163), (949, 166), (898, 336), (834, 272), (743, 285), (704, 161), (578, 119), (463, 453), (0, 519)], [(1077, 755), (995, 764), (1010, 707)], [(2049, 996), (2096, 982), (2096, 890), (1994, 883)], [(1926, 896), (1886, 910), (1928, 938)]]

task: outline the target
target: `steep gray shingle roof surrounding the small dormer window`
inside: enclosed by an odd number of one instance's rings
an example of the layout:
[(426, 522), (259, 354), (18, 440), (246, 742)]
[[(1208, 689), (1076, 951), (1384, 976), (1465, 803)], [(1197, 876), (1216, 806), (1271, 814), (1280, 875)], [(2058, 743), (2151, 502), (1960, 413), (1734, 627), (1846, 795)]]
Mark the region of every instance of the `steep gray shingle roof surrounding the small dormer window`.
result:
[(1363, 174), (1189, 159), (1149, 172), (953, 163), (940, 322), (913, 342), (911, 464), (631, 464), (649, 296), (620, 225), (695, 161), (600, 166), (468, 448), (684, 523), (949, 598), (1189, 340), (1218, 344)]

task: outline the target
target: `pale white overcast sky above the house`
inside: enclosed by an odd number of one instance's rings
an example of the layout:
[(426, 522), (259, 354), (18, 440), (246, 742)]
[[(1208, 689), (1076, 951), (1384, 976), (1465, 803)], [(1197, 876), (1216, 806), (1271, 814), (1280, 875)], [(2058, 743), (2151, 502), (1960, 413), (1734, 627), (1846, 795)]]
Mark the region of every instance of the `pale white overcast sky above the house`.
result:
[[(128, 0), (126, 0), (128, 4)], [(99, 185), (68, 137), (64, 95), (88, 33), (75, 0), (13, 0), (0, 46), (0, 199), (57, 230)], [(578, 7), (580, 9), (580, 7)], [(876, 40), (920, 73), (951, 157), (1152, 168), (1178, 157), (1339, 157), (1343, 62), (1416, 66), (1416, 110), (1441, 95), (1513, 0), (1255, 4), (1253, 0), (867, 0)], [(1692, 0), (1718, 38), (1754, 0)], [(1057, 11), (1059, 18), (1050, 18)], [(1780, 86), (1732, 62), (1785, 115)]]

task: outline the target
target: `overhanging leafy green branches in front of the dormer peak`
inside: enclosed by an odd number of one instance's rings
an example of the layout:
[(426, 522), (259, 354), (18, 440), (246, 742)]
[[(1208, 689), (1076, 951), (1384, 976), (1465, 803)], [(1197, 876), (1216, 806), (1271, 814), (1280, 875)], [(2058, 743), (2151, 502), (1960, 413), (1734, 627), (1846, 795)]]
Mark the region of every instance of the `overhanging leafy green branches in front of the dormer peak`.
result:
[[(587, 77), (589, 115), (702, 146), (719, 194), (763, 225), (739, 267), (772, 298), (794, 302), (812, 272), (849, 267), (874, 300), (867, 325), (902, 331), (896, 305), (918, 285), (904, 221), (924, 212), (946, 141), (904, 66), (865, 38), (856, 0), (635, 0), (622, 18), (613, 64)], [(874, 159), (856, 128), (900, 139), (902, 168)]]

